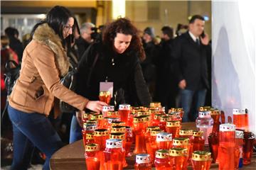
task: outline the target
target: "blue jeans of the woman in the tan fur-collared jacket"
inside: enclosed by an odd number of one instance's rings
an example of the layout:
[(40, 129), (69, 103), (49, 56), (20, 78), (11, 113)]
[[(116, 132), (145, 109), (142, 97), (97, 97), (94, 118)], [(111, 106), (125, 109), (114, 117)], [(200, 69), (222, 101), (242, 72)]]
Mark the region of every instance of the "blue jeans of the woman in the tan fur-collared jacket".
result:
[(8, 113), (14, 131), (14, 159), (11, 170), (28, 169), (35, 146), (46, 154), (43, 169), (50, 169), (50, 157), (63, 147), (63, 142), (46, 115), (25, 113), (11, 106), (8, 106)]

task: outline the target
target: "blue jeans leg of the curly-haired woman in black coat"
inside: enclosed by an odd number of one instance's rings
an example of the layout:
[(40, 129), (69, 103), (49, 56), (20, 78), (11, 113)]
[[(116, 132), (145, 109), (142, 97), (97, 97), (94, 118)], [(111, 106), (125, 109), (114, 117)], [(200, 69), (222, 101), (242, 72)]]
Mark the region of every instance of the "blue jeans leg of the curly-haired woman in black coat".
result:
[(73, 115), (70, 125), (70, 143), (82, 140), (82, 128), (78, 124), (78, 120)]

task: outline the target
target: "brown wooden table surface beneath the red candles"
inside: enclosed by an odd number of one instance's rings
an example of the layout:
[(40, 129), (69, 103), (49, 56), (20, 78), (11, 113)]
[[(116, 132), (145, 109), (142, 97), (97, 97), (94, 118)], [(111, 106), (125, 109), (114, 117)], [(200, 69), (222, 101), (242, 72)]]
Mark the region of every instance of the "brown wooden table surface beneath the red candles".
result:
[[(182, 123), (183, 129), (196, 130), (195, 123)], [(50, 159), (50, 169), (52, 170), (85, 170), (85, 149), (82, 140), (66, 145), (59, 149)], [(134, 169), (135, 156), (127, 157), (128, 166), (124, 169)], [(154, 169), (154, 168), (153, 168)], [(217, 170), (218, 164), (212, 164), (210, 169)], [(252, 163), (248, 166), (243, 166), (242, 170), (256, 169), (256, 154), (253, 155)], [(188, 170), (192, 170), (189, 166)]]

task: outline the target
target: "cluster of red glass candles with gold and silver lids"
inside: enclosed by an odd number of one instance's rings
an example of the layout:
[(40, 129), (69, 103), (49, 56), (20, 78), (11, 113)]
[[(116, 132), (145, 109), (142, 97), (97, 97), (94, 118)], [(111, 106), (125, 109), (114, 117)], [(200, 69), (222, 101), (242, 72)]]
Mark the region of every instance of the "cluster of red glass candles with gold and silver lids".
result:
[[(207, 170), (216, 159), (220, 169), (225, 166), (235, 169), (239, 166), (241, 148), (246, 148), (241, 142), (243, 134), (235, 132), (233, 124), (220, 124), (220, 111), (200, 108), (206, 110), (211, 111), (214, 120), (208, 139), (200, 130), (181, 128), (182, 108), (171, 108), (165, 113), (161, 103), (151, 103), (149, 108), (122, 104), (118, 111), (114, 111), (114, 106), (104, 106), (102, 114), (84, 113), (82, 134), (87, 169), (120, 170), (127, 166), (125, 157), (133, 154), (137, 154), (135, 169), (147, 170), (152, 166), (156, 170), (187, 169), (192, 165), (193, 169)], [(235, 133), (240, 136), (237, 142)], [(210, 152), (204, 151), (205, 140)], [(132, 144), (135, 144), (133, 151)], [(234, 152), (232, 157), (228, 155), (231, 152)]]

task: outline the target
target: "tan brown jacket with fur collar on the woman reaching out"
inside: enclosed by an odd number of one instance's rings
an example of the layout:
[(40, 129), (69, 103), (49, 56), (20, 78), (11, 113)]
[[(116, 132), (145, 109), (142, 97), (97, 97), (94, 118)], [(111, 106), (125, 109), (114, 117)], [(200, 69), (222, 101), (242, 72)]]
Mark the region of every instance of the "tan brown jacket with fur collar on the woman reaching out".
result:
[(84, 110), (87, 98), (60, 84), (60, 77), (68, 72), (69, 65), (59, 36), (47, 23), (38, 26), (23, 52), (20, 77), (9, 96), (11, 107), (48, 115), (56, 97)]

